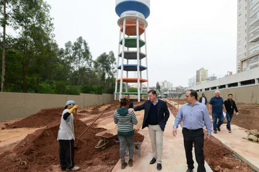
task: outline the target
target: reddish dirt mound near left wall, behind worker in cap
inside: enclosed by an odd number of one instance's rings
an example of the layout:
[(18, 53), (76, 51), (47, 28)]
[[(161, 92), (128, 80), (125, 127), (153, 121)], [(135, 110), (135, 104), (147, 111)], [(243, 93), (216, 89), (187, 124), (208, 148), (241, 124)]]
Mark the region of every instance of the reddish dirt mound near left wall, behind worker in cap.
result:
[(59, 121), (64, 108), (42, 109), (37, 114), (27, 116), (17, 122), (7, 125), (6, 128), (37, 128), (49, 126), (53, 121)]

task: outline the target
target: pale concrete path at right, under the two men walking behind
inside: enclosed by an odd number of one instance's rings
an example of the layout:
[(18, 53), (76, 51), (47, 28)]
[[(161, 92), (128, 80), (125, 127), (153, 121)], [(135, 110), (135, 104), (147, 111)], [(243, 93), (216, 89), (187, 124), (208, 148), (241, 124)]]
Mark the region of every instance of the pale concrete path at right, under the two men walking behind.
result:
[(228, 133), (224, 123), (221, 126), (221, 131), (212, 135), (221, 141), (232, 153), (259, 172), (259, 143), (247, 140), (249, 130), (236, 125), (231, 125), (231, 130), (232, 133)]

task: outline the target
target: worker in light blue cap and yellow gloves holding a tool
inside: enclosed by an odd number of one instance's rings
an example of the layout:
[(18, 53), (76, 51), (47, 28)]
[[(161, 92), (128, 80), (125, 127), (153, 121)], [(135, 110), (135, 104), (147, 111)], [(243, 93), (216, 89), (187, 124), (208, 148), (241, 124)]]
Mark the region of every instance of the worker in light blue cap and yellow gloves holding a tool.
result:
[(59, 158), (61, 171), (77, 171), (80, 168), (74, 166), (74, 117), (73, 111), (77, 109), (73, 100), (66, 103), (61, 116), (58, 131)]

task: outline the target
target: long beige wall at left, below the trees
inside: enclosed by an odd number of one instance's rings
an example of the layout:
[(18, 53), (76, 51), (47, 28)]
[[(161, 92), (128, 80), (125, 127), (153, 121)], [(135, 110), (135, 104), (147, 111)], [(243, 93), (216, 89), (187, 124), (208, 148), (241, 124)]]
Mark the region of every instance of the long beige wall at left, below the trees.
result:
[(101, 105), (114, 99), (113, 94), (35, 94), (0, 92), (0, 120), (26, 117), (41, 109), (65, 107), (68, 100), (74, 100), (79, 107)]

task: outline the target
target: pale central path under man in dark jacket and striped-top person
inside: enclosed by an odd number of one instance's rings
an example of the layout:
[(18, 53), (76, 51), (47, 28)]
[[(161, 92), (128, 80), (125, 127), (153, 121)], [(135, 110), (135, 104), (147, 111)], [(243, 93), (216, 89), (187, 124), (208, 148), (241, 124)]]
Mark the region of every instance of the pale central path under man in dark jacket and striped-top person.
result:
[[(169, 110), (170, 111), (170, 110)], [(144, 111), (143, 111), (144, 113)], [(186, 172), (186, 158), (185, 158), (185, 148), (184, 148), (184, 138), (182, 134), (182, 128), (178, 128), (178, 134), (176, 137), (173, 136), (173, 123), (174, 116), (170, 112), (170, 117), (166, 124), (166, 129), (164, 131), (164, 146), (163, 146), (163, 162), (161, 172)], [(140, 121), (142, 122), (142, 121)], [(112, 172), (157, 172), (156, 163), (149, 165), (149, 161), (152, 159), (151, 143), (148, 134), (148, 128), (139, 131), (144, 134), (145, 141), (141, 146), (141, 157), (137, 153), (134, 153), (133, 167), (127, 166), (124, 170), (121, 170), (121, 162), (118, 161)], [(126, 156), (126, 161), (128, 161), (128, 156)], [(193, 151), (193, 161), (195, 172), (197, 170), (197, 163)], [(205, 167), (207, 172), (212, 172), (208, 164), (205, 162)]]

